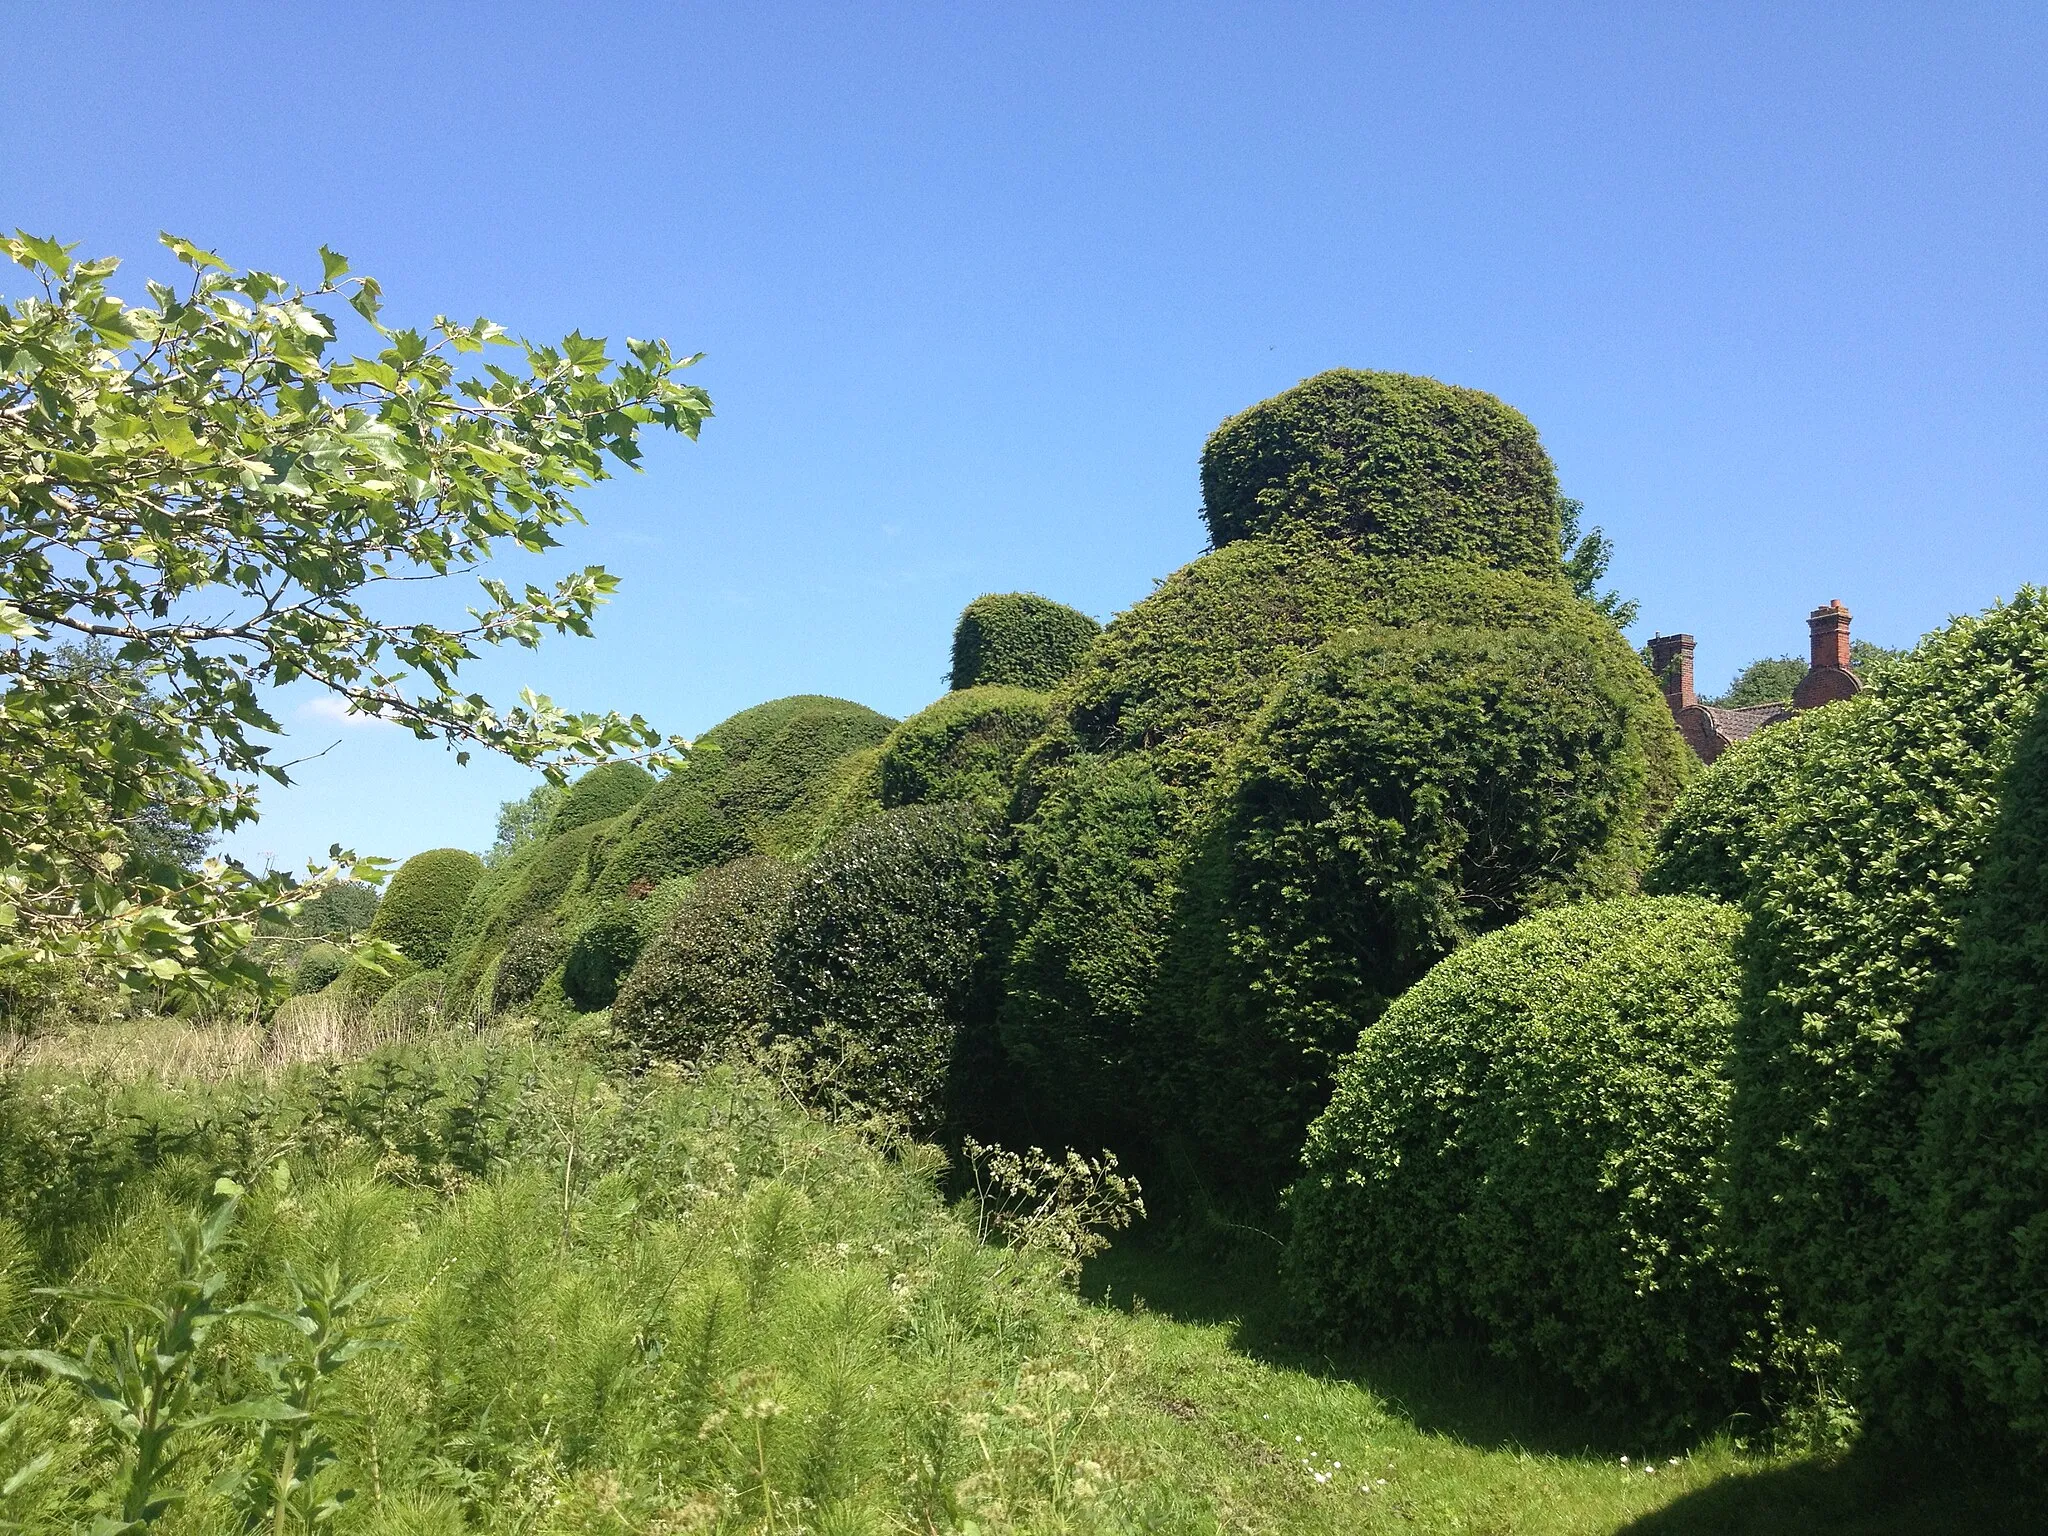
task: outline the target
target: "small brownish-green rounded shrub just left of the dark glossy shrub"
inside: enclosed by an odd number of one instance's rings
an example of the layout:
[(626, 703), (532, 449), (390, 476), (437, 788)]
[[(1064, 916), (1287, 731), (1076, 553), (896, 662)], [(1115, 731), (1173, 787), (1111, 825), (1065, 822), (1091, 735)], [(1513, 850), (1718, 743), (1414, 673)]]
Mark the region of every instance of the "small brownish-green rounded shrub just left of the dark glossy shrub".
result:
[(698, 874), (639, 956), (612, 1028), (653, 1057), (709, 1063), (768, 1032), (768, 952), (797, 885), (780, 858), (739, 858)]

